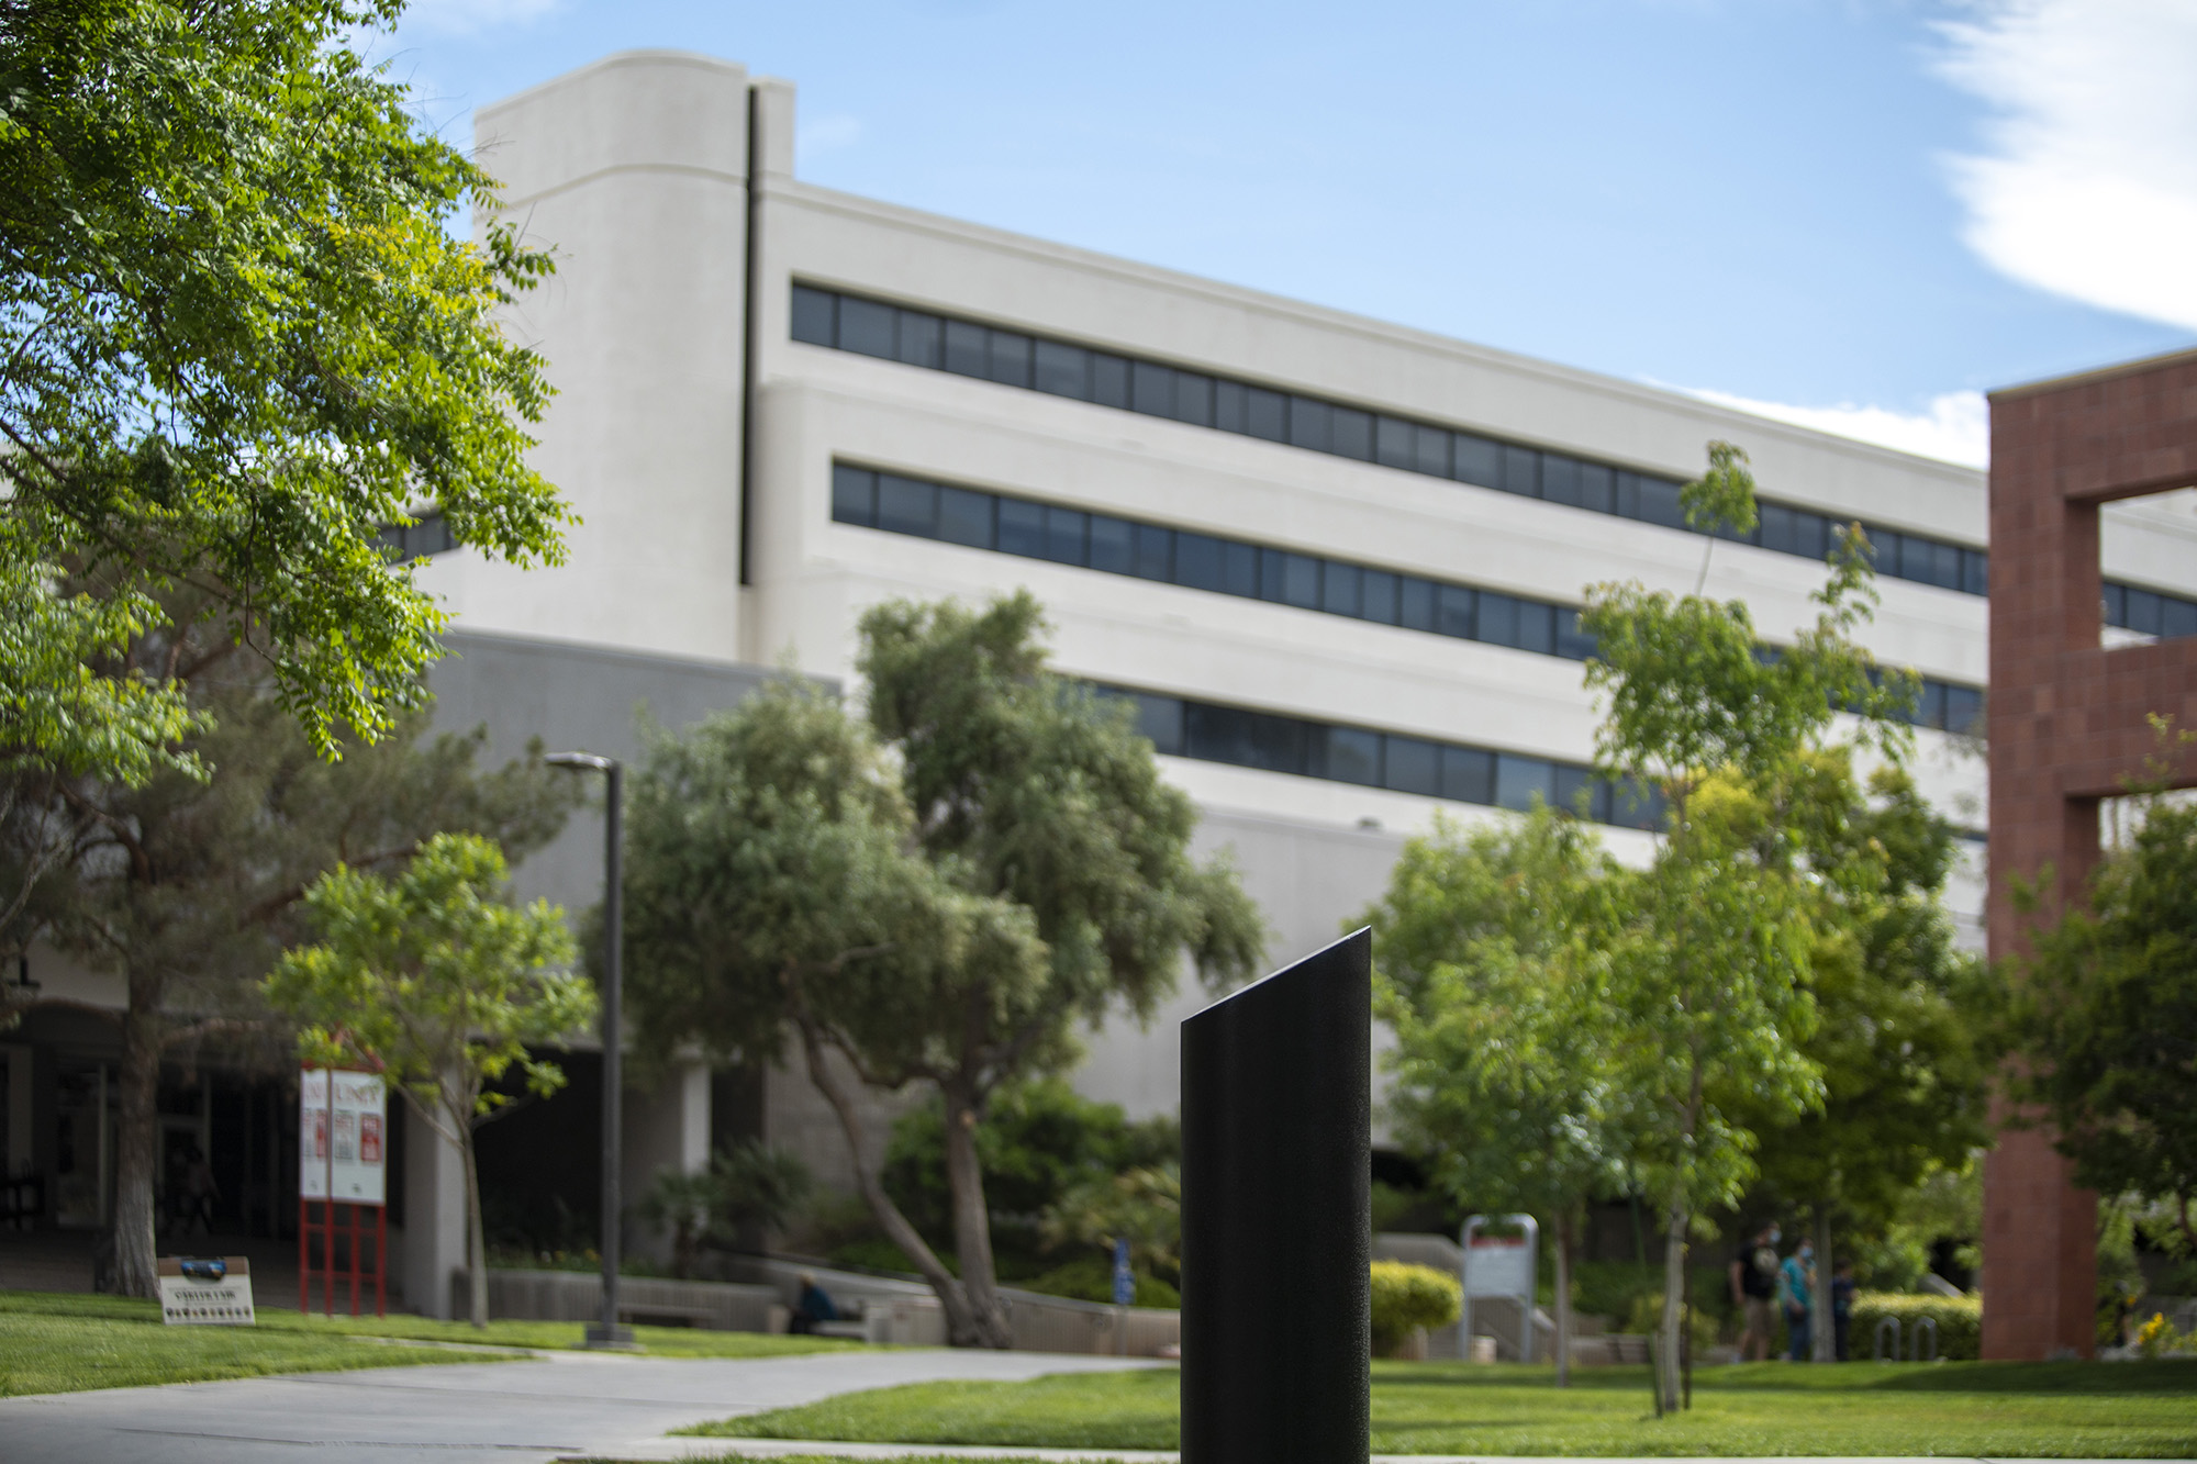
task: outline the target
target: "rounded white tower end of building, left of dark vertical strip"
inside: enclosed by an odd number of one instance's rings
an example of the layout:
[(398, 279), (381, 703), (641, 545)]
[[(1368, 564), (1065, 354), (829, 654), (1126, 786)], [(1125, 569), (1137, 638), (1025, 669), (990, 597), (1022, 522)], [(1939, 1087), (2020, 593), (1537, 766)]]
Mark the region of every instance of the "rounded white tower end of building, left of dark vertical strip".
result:
[(527, 462), (587, 532), (556, 567), (446, 556), (433, 591), (468, 629), (738, 657), (747, 114), (743, 66), (679, 51), (475, 114), (501, 218), (556, 251), (503, 321), (558, 389)]

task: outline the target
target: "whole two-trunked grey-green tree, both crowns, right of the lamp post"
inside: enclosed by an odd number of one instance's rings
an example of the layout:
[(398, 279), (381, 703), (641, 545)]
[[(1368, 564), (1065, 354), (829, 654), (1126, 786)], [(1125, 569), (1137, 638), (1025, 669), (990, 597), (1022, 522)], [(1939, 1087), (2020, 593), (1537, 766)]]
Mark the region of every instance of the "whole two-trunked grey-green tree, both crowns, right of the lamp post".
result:
[[(1081, 1024), (1149, 1016), (1184, 952), (1235, 980), (1261, 943), (1233, 873), (1191, 862), (1195, 809), (1131, 710), (1046, 670), (1041, 629), (1026, 594), (874, 607), (868, 723), (778, 686), (661, 743), (635, 794), (644, 1040), (765, 1055), (791, 1029), (956, 1343), (1008, 1341), (975, 1145), (993, 1093), (1061, 1071)], [(857, 1084), (940, 1095), (958, 1277), (863, 1158)]]

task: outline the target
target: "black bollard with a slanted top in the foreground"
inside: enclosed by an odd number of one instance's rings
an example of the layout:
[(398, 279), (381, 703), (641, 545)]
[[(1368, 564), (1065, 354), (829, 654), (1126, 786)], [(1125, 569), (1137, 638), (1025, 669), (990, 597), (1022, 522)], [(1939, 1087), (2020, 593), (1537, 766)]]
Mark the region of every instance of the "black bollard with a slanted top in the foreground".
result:
[(1182, 1024), (1182, 1464), (1364, 1464), (1373, 936)]

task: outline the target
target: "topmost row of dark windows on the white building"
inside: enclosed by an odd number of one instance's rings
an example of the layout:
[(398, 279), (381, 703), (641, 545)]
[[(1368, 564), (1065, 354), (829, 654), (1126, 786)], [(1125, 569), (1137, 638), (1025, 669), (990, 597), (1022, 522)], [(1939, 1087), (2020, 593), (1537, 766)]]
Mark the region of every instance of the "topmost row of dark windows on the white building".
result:
[[(793, 286), (793, 339), (1621, 519), (1687, 528), (1679, 484), (1668, 477), (859, 295)], [(1837, 541), (1839, 523), (1843, 521), (1808, 508), (1762, 503), (1751, 532), (1725, 536), (1821, 561)], [(1990, 591), (1990, 556), (1984, 550), (1876, 523), (1863, 530), (1878, 574), (1973, 596)], [(2151, 631), (2153, 635), (2197, 633), (2197, 602), (2149, 589), (2114, 589), (2182, 607), (2177, 615), (2188, 618), (2190, 631)], [(2144, 629), (2129, 620), (2135, 613), (2142, 611), (2120, 609), (2107, 596), (2107, 624)]]

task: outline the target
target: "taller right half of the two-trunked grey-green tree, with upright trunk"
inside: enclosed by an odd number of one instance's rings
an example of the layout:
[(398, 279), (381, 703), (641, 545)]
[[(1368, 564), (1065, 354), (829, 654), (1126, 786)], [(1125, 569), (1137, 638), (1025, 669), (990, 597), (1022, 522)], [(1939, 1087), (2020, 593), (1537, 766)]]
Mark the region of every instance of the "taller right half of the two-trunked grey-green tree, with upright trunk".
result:
[(975, 1125), (993, 1090), (1059, 1071), (1077, 1022), (1149, 1020), (1182, 954), (1211, 983), (1263, 950), (1257, 908), (1224, 864), (1189, 857), (1197, 811), (1160, 780), (1127, 706), (1046, 668), (1028, 591), (982, 611), (885, 602), (861, 618), (870, 723), (901, 754), (925, 855), (971, 892), (1026, 910), (1044, 941), (1026, 1007), (971, 989), (927, 1013), (943, 1060), (947, 1185), (962, 1282), (982, 1339), (1006, 1345)]

